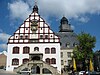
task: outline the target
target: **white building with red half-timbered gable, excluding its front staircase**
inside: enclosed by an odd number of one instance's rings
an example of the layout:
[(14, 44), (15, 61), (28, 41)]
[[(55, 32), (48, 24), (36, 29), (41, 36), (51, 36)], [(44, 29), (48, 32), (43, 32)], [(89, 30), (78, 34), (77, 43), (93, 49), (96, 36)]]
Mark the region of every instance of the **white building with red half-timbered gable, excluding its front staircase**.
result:
[(6, 70), (13, 71), (27, 62), (34, 63), (34, 60), (42, 60), (61, 72), (60, 39), (38, 14), (37, 5), (8, 40)]

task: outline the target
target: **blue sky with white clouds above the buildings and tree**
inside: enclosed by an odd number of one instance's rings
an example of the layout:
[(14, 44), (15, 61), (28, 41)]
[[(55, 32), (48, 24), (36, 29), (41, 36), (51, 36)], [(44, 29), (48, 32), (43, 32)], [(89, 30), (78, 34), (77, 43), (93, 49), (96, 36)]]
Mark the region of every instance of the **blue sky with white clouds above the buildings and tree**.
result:
[[(59, 31), (65, 16), (74, 32), (96, 37), (94, 51), (100, 50), (100, 0), (37, 0), (39, 14), (54, 32)], [(34, 0), (0, 0), (0, 51), (6, 50), (7, 39), (32, 12)]]

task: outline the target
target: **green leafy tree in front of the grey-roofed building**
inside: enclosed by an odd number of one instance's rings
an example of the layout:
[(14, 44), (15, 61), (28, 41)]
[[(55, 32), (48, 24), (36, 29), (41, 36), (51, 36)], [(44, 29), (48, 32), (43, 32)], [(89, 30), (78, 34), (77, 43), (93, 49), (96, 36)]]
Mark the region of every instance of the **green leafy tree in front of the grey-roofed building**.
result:
[(85, 63), (84, 65), (87, 65), (88, 59), (93, 59), (93, 48), (95, 47), (96, 38), (94, 36), (91, 36), (90, 34), (81, 32), (77, 39), (79, 41), (79, 44), (77, 47), (75, 47), (73, 51), (73, 57), (77, 61), (81, 61), (81, 63)]

